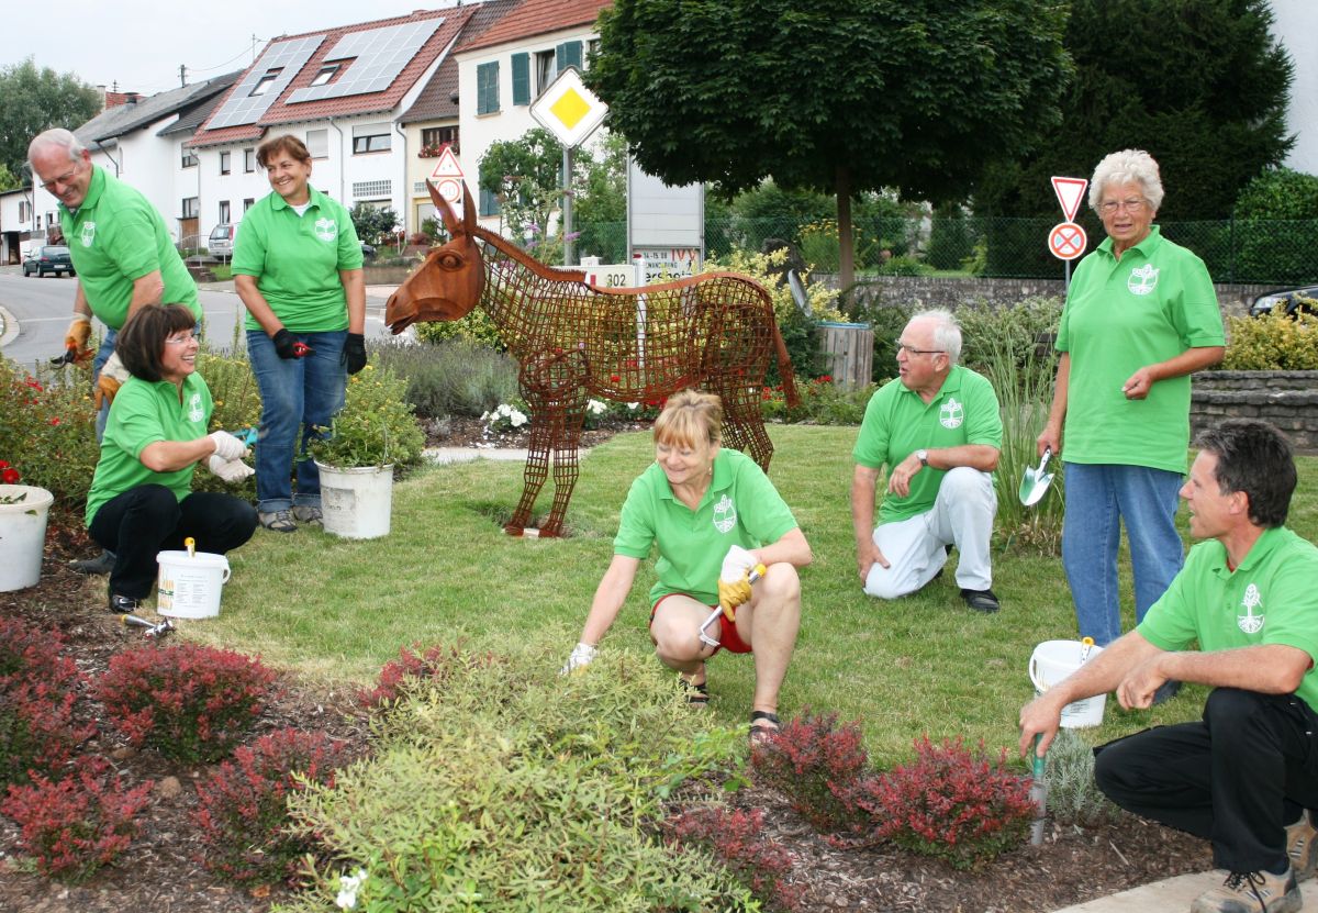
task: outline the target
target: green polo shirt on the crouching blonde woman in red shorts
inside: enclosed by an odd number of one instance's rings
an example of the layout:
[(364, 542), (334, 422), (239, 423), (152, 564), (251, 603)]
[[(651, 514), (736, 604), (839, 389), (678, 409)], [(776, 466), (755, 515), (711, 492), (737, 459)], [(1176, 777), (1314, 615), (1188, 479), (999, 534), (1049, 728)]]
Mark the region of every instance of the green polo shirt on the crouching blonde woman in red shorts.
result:
[(652, 463), (631, 483), (622, 505), (613, 553), (650, 557), (659, 544), (650, 604), (685, 592), (705, 604), (718, 602), (718, 573), (728, 549), (758, 549), (796, 529), (796, 519), (764, 471), (746, 454), (726, 447), (714, 456), (709, 489), (695, 511), (673, 497), (663, 467)]

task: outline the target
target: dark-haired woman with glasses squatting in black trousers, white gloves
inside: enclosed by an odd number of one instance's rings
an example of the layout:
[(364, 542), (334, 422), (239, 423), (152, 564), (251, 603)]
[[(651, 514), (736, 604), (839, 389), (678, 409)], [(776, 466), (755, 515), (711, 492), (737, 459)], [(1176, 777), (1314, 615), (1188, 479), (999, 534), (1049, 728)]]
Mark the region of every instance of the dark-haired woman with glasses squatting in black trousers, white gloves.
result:
[(156, 555), (183, 548), (224, 554), (256, 530), (256, 509), (232, 495), (192, 492), (206, 462), (225, 482), (252, 475), (246, 445), (207, 433), (211, 391), (196, 373), (196, 317), (183, 305), (148, 305), (119, 331), (116, 351), (132, 375), (109, 409), (87, 495), (87, 529), (115, 553), (109, 611), (133, 612), (152, 591)]

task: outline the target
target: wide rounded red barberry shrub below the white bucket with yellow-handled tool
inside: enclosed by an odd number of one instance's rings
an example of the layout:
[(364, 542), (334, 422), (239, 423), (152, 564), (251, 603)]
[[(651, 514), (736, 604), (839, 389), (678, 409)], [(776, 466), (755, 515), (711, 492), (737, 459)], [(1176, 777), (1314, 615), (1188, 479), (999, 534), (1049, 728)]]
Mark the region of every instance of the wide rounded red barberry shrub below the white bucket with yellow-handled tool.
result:
[(111, 658), (95, 693), (129, 743), (192, 764), (217, 761), (246, 738), (274, 679), (260, 658), (241, 653), (149, 644)]

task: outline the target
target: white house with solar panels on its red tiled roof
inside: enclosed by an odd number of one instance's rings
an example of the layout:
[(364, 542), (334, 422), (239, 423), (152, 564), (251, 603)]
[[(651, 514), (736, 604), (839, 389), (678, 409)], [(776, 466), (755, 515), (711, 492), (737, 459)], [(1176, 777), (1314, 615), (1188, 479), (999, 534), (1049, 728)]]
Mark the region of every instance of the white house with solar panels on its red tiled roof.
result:
[(407, 224), (407, 136), (397, 124), (448, 58), (474, 8), (418, 11), (272, 40), (187, 142), (202, 226), (241, 222), (270, 193), (256, 148), (291, 133), (312, 183), (352, 207), (391, 206)]

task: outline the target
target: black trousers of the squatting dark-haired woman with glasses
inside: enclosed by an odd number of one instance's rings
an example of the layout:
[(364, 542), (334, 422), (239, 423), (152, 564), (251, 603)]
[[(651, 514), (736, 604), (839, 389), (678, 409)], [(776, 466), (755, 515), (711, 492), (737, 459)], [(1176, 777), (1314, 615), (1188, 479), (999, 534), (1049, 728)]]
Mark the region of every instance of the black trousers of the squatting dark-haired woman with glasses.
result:
[(198, 491), (181, 501), (152, 484), (101, 504), (87, 532), (115, 553), (109, 591), (145, 599), (156, 584), (157, 553), (182, 549), (191, 536), (198, 551), (224, 554), (252, 538), (256, 525), (256, 508), (233, 495)]

